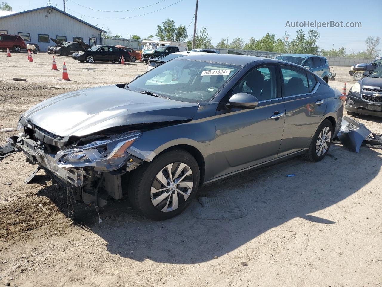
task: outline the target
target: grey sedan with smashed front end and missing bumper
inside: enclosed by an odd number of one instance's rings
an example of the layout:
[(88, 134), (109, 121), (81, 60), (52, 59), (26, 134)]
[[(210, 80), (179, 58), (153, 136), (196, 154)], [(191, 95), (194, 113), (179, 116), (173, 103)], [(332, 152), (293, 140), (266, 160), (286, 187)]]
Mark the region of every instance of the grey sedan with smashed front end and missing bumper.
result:
[(128, 195), (163, 220), (202, 184), (291, 156), (322, 160), (341, 126), (341, 96), (298, 65), (203, 53), (46, 99), (21, 115), (16, 146), (70, 202), (100, 207)]

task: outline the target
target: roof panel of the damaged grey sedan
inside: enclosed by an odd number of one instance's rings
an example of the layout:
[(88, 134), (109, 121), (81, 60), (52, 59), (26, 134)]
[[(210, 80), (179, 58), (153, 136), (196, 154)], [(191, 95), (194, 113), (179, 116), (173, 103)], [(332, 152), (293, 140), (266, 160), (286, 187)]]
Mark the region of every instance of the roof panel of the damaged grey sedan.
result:
[(197, 60), (197, 61), (211, 61), (220, 64), (245, 66), (246, 64), (252, 62), (280, 62), (279, 60), (273, 60), (264, 57), (249, 56), (249, 55), (232, 55), (232, 54), (215, 54), (215, 53), (204, 53), (204, 52), (194, 52), (198, 53), (193, 55), (188, 55), (181, 57), (181, 60)]

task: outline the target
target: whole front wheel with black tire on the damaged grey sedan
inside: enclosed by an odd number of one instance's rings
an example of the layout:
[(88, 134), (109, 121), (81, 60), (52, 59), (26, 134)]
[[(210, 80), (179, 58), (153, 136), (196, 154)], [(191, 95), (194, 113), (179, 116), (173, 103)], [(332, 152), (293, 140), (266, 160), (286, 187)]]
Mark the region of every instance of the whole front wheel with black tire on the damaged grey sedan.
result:
[(194, 199), (200, 171), (190, 153), (171, 150), (139, 166), (130, 178), (133, 206), (151, 220), (165, 220), (180, 214)]

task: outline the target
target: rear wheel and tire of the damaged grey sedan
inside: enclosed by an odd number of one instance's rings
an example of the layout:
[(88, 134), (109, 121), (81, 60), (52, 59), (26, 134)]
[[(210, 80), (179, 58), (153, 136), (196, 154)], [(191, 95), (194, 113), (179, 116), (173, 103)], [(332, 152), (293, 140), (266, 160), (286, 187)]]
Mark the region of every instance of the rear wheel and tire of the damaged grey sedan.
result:
[(328, 153), (333, 138), (332, 123), (325, 119), (318, 127), (312, 142), (303, 155), (303, 158), (309, 161), (317, 162), (322, 160)]

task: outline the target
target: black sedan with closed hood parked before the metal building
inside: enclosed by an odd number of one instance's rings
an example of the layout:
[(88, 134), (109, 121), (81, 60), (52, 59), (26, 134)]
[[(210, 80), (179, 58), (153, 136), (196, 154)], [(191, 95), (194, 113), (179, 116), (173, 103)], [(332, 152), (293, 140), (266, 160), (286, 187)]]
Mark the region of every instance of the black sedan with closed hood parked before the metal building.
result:
[[(80, 43), (81, 44), (81, 43)], [(121, 62), (122, 56), (125, 61), (131, 60), (130, 53), (123, 49), (109, 45), (97, 45), (80, 52), (74, 52), (72, 58), (80, 62)]]

